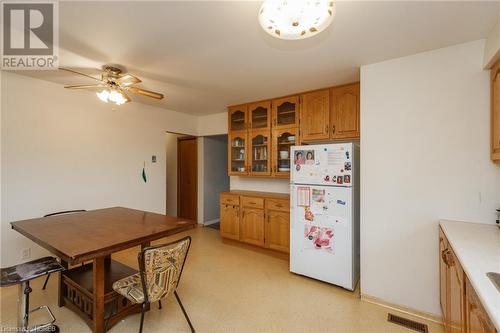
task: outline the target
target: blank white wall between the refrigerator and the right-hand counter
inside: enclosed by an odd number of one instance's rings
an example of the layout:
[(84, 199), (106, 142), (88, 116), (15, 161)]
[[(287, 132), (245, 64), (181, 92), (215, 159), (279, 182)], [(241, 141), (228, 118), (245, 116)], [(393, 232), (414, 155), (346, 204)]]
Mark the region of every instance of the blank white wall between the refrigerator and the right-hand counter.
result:
[(438, 220), (494, 222), (484, 41), (361, 68), (361, 292), (440, 315)]

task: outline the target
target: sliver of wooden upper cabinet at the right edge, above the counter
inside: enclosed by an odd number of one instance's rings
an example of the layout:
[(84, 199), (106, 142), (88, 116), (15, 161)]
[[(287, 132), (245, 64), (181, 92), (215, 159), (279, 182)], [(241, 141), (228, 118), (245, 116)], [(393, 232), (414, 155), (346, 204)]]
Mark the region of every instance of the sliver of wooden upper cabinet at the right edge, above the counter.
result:
[(491, 159), (500, 162), (500, 61), (491, 69)]

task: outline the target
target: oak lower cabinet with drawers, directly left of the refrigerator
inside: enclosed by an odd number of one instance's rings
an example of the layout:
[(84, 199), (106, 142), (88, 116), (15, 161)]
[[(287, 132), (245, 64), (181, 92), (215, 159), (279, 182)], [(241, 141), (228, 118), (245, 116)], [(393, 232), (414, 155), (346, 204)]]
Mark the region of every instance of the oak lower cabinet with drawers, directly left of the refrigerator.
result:
[[(227, 204), (231, 200), (233, 204)], [(290, 202), (288, 195), (232, 191), (221, 193), (222, 238), (288, 253)]]

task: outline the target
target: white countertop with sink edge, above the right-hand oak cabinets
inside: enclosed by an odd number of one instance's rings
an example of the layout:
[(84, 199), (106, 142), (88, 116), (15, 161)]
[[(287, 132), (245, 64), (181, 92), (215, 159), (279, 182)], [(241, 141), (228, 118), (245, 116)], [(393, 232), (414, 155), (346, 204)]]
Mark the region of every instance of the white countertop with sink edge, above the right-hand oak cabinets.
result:
[(500, 273), (500, 229), (493, 224), (441, 220), (441, 228), (465, 274), (500, 332), (500, 291), (486, 276)]

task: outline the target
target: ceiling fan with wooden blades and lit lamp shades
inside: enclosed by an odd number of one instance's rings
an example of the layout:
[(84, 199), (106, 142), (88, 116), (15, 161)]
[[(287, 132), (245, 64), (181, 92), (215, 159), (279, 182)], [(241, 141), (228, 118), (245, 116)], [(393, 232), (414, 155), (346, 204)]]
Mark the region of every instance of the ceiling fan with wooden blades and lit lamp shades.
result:
[(123, 74), (121, 69), (114, 66), (104, 66), (100, 79), (69, 68), (60, 67), (59, 69), (99, 81), (97, 84), (81, 84), (65, 86), (64, 88), (100, 90), (100, 92), (97, 92), (96, 95), (101, 101), (106, 103), (113, 102), (116, 105), (121, 105), (131, 102), (132, 99), (127, 93), (143, 95), (156, 99), (163, 98), (163, 94), (135, 87), (135, 84), (141, 83), (142, 81), (132, 74)]

